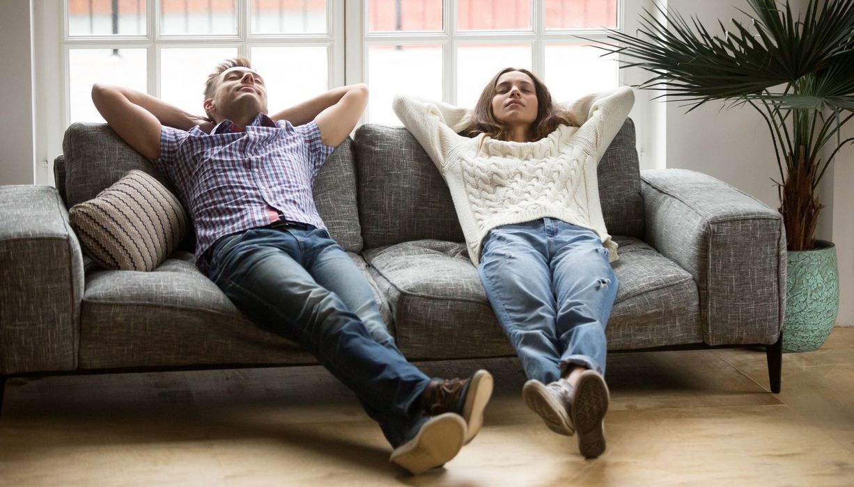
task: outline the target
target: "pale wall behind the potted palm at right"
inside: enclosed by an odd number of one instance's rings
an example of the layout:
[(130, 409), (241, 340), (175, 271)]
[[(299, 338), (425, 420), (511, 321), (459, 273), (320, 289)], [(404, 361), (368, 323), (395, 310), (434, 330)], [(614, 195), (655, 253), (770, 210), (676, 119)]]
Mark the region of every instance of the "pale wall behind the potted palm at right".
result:
[[(750, 11), (746, 0), (668, 0), (667, 4), (683, 16), (698, 16), (713, 33), (719, 32), (718, 19), (731, 26), (730, 19), (745, 18), (737, 9)], [(798, 6), (805, 4), (801, 0)], [(767, 125), (752, 107), (721, 107), (717, 103), (685, 113), (678, 101), (667, 104), (666, 166), (705, 172), (776, 209), (779, 199), (770, 178), (779, 180), (780, 176)], [(847, 136), (854, 136), (854, 126), (847, 131)], [(850, 189), (854, 188), (854, 148), (839, 151), (834, 171), (828, 171), (825, 179), (819, 191), (826, 207), (817, 235), (837, 246), (840, 299), (836, 324), (854, 326), (854, 192)]]

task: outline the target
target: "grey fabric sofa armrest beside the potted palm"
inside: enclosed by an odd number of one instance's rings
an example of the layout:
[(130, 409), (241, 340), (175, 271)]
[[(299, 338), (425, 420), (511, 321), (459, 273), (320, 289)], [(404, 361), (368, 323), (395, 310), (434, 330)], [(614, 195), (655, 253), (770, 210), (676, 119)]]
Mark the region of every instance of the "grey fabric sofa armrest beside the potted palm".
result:
[(693, 275), (705, 343), (775, 343), (786, 309), (780, 213), (699, 172), (640, 177), (646, 241)]

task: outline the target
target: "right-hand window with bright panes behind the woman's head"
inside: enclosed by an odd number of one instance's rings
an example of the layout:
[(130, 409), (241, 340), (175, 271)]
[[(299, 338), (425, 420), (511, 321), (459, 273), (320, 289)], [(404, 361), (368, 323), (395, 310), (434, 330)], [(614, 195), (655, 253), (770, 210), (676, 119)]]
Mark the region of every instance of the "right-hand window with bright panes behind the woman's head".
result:
[[(371, 123), (398, 125), (395, 93), (473, 107), (503, 67), (541, 77), (556, 100), (616, 88), (617, 61), (581, 35), (623, 28), (623, 0), (362, 0), (360, 38), (348, 64), (371, 86)], [(349, 5), (349, 3), (348, 3)], [(348, 17), (348, 26), (354, 18)], [(350, 67), (348, 66), (348, 70)], [(357, 71), (357, 70), (351, 70)]]

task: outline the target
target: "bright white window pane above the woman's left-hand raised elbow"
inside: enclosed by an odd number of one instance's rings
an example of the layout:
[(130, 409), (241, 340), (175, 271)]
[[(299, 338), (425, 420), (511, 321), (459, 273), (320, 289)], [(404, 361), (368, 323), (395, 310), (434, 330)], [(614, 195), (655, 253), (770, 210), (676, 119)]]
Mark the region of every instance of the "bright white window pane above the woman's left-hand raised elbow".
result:
[(402, 125), (391, 109), (396, 94), (442, 101), (442, 46), (371, 46), (368, 83), (371, 124)]

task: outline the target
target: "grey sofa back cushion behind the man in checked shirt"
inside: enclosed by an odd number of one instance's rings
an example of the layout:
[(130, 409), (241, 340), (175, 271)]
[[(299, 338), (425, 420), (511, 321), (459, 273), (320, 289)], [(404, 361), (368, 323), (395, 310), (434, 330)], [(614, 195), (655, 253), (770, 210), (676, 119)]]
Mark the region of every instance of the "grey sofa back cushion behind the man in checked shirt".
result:
[[(65, 131), (62, 152), (64, 161), (57, 159), (56, 163), (64, 162), (64, 168), (57, 174), (65, 175), (65, 190), (61, 193), (69, 208), (96, 197), (133, 169), (149, 173), (174, 192), (167, 177), (106, 124), (72, 124)], [(59, 177), (56, 183), (61, 183)], [(330, 155), (314, 181), (314, 202), (320, 217), (329, 227), (332, 238), (348, 252), (362, 249), (355, 183), (351, 140), (348, 139)]]

